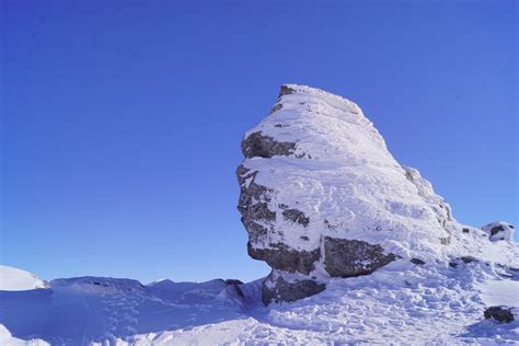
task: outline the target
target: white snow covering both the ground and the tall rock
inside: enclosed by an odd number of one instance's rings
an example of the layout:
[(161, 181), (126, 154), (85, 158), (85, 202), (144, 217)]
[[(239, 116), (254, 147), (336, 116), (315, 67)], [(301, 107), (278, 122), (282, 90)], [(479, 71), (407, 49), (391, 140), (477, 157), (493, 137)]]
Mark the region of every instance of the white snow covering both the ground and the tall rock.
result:
[[(431, 184), (393, 159), (357, 105), (284, 85), (273, 113), (250, 136), (238, 173), (242, 188), (252, 191), (242, 192), (241, 206), (249, 209), (240, 211), (249, 252), (278, 267), (267, 279), (141, 285), (79, 277), (45, 285), (2, 267), (0, 344), (519, 344), (512, 227), (457, 222)], [(366, 251), (373, 247), (362, 242), (383, 249), (377, 256), (394, 257), (366, 275), (333, 276), (322, 256), (326, 238), (337, 240), (328, 243), (332, 250), (357, 241)], [(315, 250), (318, 260), (292, 262), (315, 258)], [(349, 253), (357, 257), (335, 269), (373, 263), (371, 252), (366, 258)], [(275, 296), (284, 281), (325, 289), (284, 302)], [(264, 304), (266, 289), (274, 295), (269, 302), (279, 303)], [(491, 307), (510, 311), (514, 321), (485, 319)]]

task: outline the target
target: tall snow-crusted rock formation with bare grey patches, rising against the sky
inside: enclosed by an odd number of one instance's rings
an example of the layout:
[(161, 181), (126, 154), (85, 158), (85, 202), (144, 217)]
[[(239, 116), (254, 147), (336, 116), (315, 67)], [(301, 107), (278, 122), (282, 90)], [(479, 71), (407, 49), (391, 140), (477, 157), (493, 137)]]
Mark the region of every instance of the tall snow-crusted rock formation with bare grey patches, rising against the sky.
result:
[(316, 295), (334, 277), (369, 275), (394, 261), (452, 263), (478, 249), (477, 235), (511, 239), (506, 222), (483, 230), (458, 223), (431, 184), (396, 162), (358, 105), (319, 89), (281, 85), (241, 149), (238, 209), (249, 255), (272, 267), (265, 304)]

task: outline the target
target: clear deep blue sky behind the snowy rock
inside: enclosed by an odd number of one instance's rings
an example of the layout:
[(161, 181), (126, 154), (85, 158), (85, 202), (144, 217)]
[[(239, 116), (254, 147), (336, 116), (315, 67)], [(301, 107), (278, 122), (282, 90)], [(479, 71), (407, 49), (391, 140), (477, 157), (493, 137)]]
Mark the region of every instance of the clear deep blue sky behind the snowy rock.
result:
[(281, 83), (357, 102), (482, 226), (518, 224), (516, 1), (4, 1), (1, 262), (251, 280), (240, 140)]

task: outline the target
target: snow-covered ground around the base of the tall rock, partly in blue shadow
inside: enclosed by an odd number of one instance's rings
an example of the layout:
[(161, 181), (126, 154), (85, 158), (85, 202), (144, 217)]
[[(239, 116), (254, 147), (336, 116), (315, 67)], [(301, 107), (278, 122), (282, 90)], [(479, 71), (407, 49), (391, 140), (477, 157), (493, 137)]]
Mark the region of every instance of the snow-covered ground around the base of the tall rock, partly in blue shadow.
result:
[[(261, 302), (261, 281), (147, 286), (130, 279), (58, 279), (0, 291), (2, 345), (497, 344), (519, 343), (519, 322), (485, 320), (486, 307), (518, 307), (518, 280), (484, 262), (392, 263), (332, 279), (293, 303)], [(501, 273), (501, 274), (500, 274)], [(9, 331), (9, 332), (8, 332)], [(10, 336), (12, 334), (12, 336)]]

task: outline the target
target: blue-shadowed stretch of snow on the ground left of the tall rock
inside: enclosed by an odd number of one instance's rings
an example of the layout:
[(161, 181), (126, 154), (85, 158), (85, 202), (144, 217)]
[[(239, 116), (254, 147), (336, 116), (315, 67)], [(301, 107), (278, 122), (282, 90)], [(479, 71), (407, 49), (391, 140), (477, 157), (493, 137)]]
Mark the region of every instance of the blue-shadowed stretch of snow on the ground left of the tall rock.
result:
[(37, 336), (53, 345), (114, 342), (239, 319), (251, 300), (241, 286), (221, 279), (148, 286), (118, 278), (57, 279), (45, 289), (0, 291), (0, 324), (14, 337)]

